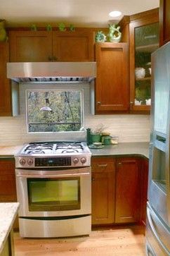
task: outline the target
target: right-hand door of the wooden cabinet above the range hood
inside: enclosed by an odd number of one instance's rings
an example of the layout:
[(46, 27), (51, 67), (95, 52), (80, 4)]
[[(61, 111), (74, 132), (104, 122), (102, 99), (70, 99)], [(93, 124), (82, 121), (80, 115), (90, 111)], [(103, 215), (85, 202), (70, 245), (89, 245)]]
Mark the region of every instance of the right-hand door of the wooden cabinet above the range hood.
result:
[(56, 61), (93, 61), (93, 32), (53, 31)]

